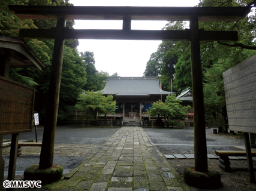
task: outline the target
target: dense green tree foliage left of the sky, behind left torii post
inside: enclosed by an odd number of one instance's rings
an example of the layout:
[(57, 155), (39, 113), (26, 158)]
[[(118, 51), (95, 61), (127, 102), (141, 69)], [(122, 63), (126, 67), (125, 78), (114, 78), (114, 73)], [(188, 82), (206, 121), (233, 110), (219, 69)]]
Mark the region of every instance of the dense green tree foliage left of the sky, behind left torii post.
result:
[[(73, 6), (68, 0), (2, 1), (0, 4), (0, 36), (11, 38), (19, 36), (19, 29), (50, 29), (51, 27), (56, 27), (56, 20), (23, 20), (11, 13), (8, 5)], [(67, 27), (72, 29), (73, 25), (73, 20), (67, 20)], [(44, 63), (45, 67), (41, 71), (34, 68), (11, 69), (9, 77), (36, 88), (35, 110), (40, 113), (40, 124), (43, 124), (54, 40), (26, 39), (25, 42)], [(79, 54), (77, 53), (78, 45), (79, 41), (76, 39), (65, 40), (58, 122), (67, 118), (68, 112), (74, 109), (77, 97), (83, 91), (101, 90), (105, 84), (106, 75), (95, 69), (94, 53), (85, 51)]]

